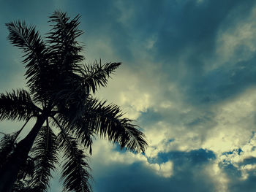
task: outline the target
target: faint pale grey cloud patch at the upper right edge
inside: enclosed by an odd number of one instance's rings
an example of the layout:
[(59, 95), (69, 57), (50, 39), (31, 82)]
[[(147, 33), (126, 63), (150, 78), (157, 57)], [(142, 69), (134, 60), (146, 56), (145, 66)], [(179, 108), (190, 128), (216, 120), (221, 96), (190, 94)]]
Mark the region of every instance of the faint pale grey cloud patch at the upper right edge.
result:
[[(234, 14), (233, 12), (230, 15)], [(246, 61), (255, 54), (256, 46), (256, 9), (253, 9), (249, 17), (243, 20), (236, 20), (226, 28), (223, 26), (219, 29), (217, 35), (217, 58), (218, 62), (211, 65), (216, 68), (219, 65), (230, 62), (236, 64), (239, 61)], [(244, 50), (238, 50), (243, 47)]]

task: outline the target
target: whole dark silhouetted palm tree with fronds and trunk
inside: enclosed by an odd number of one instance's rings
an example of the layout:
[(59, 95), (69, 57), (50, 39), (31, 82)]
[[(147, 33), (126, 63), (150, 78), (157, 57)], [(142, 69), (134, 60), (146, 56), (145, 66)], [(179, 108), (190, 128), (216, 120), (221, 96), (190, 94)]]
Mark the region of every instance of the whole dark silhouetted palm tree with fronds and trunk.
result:
[[(43, 41), (34, 26), (7, 23), (8, 39), (23, 50), (23, 64), (29, 91), (12, 90), (0, 94), (0, 120), (24, 120), (14, 134), (4, 135), (0, 147), (0, 191), (11, 191), (22, 168), (31, 163), (31, 188), (45, 191), (51, 171), (63, 155), (61, 177), (64, 191), (91, 191), (88, 155), (96, 134), (135, 153), (145, 151), (144, 134), (132, 120), (123, 118), (115, 104), (94, 98), (100, 86), (121, 63), (83, 65), (83, 47), (77, 38), (80, 16), (70, 19), (64, 12), (50, 16), (51, 30)], [(18, 136), (26, 123), (35, 124), (23, 139)], [(30, 169), (31, 173), (31, 169)], [(25, 175), (26, 176), (26, 175)], [(17, 183), (17, 182), (16, 182)]]

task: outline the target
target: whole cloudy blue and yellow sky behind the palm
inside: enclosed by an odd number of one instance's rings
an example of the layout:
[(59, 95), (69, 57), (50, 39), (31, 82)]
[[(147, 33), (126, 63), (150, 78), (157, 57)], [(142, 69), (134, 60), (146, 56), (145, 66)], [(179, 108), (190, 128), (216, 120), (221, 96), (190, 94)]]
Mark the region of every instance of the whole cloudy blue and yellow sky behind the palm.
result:
[[(43, 36), (56, 9), (81, 15), (87, 64), (122, 62), (97, 97), (121, 106), (148, 141), (135, 155), (97, 138), (94, 192), (256, 190), (255, 0), (0, 0), (1, 93), (26, 87), (4, 23), (26, 20)], [(61, 191), (59, 178), (49, 191)]]

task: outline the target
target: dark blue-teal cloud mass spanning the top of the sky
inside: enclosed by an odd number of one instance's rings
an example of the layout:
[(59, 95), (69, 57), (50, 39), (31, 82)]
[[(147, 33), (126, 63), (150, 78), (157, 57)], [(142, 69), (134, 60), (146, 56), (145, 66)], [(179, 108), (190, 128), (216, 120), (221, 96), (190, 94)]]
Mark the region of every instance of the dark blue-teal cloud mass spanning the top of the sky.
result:
[[(222, 96), (227, 97), (230, 91), (236, 93), (236, 89), (241, 88), (239, 84), (236, 84), (236, 88), (232, 85), (227, 88), (224, 85), (222, 88), (215, 83), (214, 80), (217, 78), (219, 81), (225, 79), (227, 72), (218, 73), (216, 76), (209, 74), (209, 77), (205, 77), (203, 66), (206, 64), (202, 59), (214, 56), (212, 52), (215, 49), (219, 28), (226, 28), (233, 20), (246, 17), (254, 3), (255, 1), (250, 0), (246, 3), (238, 0), (129, 1), (129, 3), (76, 1), (75, 4), (61, 1), (61, 4), (56, 5), (50, 1), (45, 1), (44, 4), (39, 4), (39, 1), (32, 3), (17, 1), (14, 6), (6, 5), (5, 11), (3, 9), (6, 16), (1, 19), (1, 25), (18, 18), (26, 19), (29, 23), (45, 21), (46, 16), (58, 8), (70, 12), (70, 15), (79, 13), (82, 15), (81, 24), (86, 31), (86, 38), (97, 37), (103, 42), (110, 39), (111, 49), (116, 55), (124, 61), (132, 61), (133, 64), (136, 64), (136, 58), (132, 52), (136, 52), (138, 47), (143, 48), (145, 41), (154, 37), (154, 46), (148, 50), (148, 53), (154, 55), (154, 61), (162, 62), (161, 67), (165, 73), (169, 74), (170, 80), (183, 87), (184, 94), (189, 95), (188, 100), (207, 103), (216, 101)], [(28, 12), (24, 11), (26, 7), (36, 8)], [(122, 23), (120, 18), (125, 17), (129, 10), (131, 10), (130, 15)], [(44, 15), (40, 15), (39, 12), (43, 12)], [(238, 14), (229, 18), (230, 12)], [(44, 23), (42, 26), (47, 25), (46, 22), (40, 23)], [(6, 34), (6, 31), (4, 33)], [(178, 63), (181, 58), (184, 60), (183, 64)], [(211, 80), (211, 77), (214, 79)], [(200, 82), (204, 84), (198, 85)], [(211, 87), (211, 84), (214, 85)], [(211, 94), (213, 91), (217, 93)], [(200, 93), (203, 94), (198, 97)]]

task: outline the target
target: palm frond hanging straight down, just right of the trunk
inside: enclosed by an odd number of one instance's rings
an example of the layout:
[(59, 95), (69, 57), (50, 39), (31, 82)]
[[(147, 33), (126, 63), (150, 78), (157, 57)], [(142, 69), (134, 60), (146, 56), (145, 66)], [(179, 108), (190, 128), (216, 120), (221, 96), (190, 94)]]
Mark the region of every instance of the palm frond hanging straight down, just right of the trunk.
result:
[(58, 144), (56, 135), (50, 126), (43, 126), (37, 135), (32, 155), (34, 156), (34, 174), (31, 181), (33, 188), (40, 188), (40, 191), (46, 191), (49, 187), (49, 180), (52, 177), (52, 171), (56, 163)]

